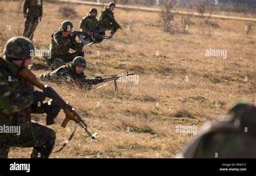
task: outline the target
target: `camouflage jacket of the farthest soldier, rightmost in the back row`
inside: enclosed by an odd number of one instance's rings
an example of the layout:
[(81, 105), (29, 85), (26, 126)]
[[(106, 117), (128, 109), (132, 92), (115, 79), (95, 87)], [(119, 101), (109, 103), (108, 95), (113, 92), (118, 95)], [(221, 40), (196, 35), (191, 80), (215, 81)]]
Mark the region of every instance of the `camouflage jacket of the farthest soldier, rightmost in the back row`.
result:
[(103, 28), (110, 26), (120, 26), (116, 19), (114, 19), (114, 13), (109, 8), (105, 8), (105, 10), (100, 12), (98, 20), (100, 27)]

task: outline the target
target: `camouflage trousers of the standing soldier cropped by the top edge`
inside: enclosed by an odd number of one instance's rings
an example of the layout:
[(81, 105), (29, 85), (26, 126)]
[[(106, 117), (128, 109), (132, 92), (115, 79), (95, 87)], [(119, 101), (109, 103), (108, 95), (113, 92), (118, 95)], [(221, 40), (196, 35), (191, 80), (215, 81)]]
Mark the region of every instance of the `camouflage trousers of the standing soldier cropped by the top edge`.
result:
[(32, 40), (37, 24), (38, 18), (27, 17), (24, 24), (23, 36)]

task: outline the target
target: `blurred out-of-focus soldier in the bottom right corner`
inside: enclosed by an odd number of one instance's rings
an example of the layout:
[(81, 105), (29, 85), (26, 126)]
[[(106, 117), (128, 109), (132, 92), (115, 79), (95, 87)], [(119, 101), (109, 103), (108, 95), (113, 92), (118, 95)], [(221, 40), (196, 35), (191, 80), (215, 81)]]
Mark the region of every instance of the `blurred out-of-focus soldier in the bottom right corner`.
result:
[(177, 158), (256, 158), (256, 107), (235, 105), (219, 122), (206, 123)]

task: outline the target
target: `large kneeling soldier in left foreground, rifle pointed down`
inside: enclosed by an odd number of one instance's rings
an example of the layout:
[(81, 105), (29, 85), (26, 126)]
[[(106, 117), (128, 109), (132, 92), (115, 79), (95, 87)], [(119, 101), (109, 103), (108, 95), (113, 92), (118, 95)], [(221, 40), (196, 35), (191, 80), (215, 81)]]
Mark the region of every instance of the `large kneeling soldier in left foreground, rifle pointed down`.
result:
[(10, 147), (33, 147), (31, 158), (48, 158), (55, 144), (55, 131), (31, 122), (31, 113), (56, 117), (59, 107), (43, 103), (42, 91), (18, 77), (23, 67), (31, 64), (30, 53), (34, 46), (25, 37), (14, 37), (4, 47), (0, 58), (0, 126), (19, 126), (18, 133), (0, 133), (0, 158), (7, 158)]

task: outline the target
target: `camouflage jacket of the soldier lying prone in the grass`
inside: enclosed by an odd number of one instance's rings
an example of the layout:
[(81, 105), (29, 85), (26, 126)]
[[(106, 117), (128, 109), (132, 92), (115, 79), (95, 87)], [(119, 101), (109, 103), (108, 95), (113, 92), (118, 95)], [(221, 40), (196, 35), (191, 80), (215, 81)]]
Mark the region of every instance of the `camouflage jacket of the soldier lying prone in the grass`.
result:
[(86, 79), (86, 75), (83, 72), (80, 74), (75, 72), (72, 62), (57, 68), (51, 73), (39, 75), (38, 78), (44, 81), (64, 81), (65, 83), (75, 83), (80, 88), (91, 85), (91, 81)]

